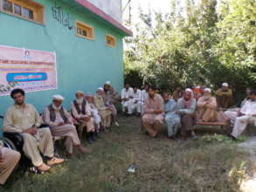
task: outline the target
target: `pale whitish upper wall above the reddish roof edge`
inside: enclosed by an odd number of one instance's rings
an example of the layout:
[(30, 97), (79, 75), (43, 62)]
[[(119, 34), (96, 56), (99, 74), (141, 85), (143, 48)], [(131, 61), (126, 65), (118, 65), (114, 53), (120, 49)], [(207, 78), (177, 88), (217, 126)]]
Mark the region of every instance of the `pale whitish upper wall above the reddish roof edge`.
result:
[(116, 21), (122, 23), (121, 0), (88, 0), (96, 7), (103, 10), (107, 15), (113, 17)]

